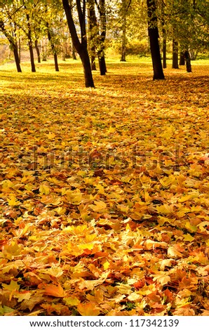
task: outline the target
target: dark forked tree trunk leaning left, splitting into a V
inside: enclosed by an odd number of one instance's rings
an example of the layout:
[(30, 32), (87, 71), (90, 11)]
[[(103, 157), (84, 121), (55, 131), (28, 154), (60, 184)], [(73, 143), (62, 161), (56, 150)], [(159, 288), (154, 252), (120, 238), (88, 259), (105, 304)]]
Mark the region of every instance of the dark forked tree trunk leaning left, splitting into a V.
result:
[(83, 0), (83, 8), (81, 8), (81, 1), (76, 0), (76, 8), (79, 15), (79, 25), (81, 27), (81, 41), (79, 40), (78, 34), (76, 32), (76, 27), (74, 20), (72, 18), (72, 7), (69, 6), (68, 0), (62, 0), (63, 8), (65, 9), (65, 14), (67, 18), (67, 24), (69, 27), (69, 32), (72, 37), (72, 42), (76, 48), (77, 53), (81, 58), (83, 64), (83, 71), (85, 77), (85, 86), (94, 87), (93, 75), (90, 67), (90, 58), (87, 51), (87, 39), (86, 39), (86, 0)]

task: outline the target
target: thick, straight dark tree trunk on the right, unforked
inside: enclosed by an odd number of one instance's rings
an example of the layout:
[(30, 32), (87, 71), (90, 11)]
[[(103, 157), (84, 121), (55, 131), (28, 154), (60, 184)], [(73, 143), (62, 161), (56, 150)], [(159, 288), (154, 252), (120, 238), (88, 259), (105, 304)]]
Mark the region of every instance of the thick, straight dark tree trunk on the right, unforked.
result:
[(159, 47), (159, 29), (157, 27), (156, 1), (147, 0), (148, 34), (151, 51), (151, 60), (154, 70), (153, 79), (165, 79)]

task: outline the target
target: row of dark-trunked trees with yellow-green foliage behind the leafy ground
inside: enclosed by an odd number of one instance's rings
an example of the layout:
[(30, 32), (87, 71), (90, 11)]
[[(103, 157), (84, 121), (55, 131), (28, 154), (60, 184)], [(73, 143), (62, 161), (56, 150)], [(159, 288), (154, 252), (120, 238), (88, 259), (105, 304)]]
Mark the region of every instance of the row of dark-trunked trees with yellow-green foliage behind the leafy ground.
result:
[(110, 46), (121, 54), (120, 60), (151, 50), (154, 79), (163, 79), (160, 51), (163, 67), (167, 49), (173, 51), (174, 68), (181, 53), (191, 71), (190, 57), (209, 46), (209, 8), (203, 0), (3, 0), (1, 8), (1, 34), (11, 45), (18, 72), (20, 51), (26, 46), (32, 72), (34, 49), (39, 62), (51, 53), (57, 71), (58, 55), (65, 60), (65, 54), (72, 56), (75, 49), (86, 86), (93, 86), (96, 58), (100, 74), (106, 73), (105, 52)]

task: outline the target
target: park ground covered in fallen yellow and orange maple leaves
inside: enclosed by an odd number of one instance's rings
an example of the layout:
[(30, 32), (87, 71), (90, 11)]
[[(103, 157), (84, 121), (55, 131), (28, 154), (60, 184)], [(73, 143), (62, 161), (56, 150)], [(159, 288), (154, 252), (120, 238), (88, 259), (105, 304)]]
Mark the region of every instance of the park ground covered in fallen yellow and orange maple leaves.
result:
[(0, 315), (209, 315), (208, 73), (1, 66)]

